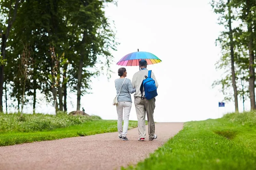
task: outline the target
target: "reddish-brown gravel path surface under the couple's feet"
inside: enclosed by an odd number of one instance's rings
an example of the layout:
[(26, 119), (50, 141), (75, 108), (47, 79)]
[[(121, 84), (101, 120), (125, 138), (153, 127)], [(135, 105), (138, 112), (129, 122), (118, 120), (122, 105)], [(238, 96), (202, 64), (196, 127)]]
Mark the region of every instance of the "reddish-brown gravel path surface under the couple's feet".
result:
[[(156, 123), (157, 139), (138, 141), (138, 129), (128, 131), (129, 141), (118, 133), (71, 137), (53, 141), (0, 147), (0, 170), (120, 169), (136, 164), (178, 133), (183, 123)], [(147, 128), (148, 129), (148, 128)]]

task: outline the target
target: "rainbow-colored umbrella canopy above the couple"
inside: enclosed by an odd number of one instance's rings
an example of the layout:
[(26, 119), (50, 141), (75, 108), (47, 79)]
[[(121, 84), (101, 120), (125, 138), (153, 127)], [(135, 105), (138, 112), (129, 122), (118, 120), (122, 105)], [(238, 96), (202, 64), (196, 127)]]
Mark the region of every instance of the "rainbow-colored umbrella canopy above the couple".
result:
[(156, 64), (162, 61), (152, 53), (138, 51), (125, 55), (116, 64), (122, 66), (139, 66), (139, 61), (142, 59), (146, 60), (148, 64)]

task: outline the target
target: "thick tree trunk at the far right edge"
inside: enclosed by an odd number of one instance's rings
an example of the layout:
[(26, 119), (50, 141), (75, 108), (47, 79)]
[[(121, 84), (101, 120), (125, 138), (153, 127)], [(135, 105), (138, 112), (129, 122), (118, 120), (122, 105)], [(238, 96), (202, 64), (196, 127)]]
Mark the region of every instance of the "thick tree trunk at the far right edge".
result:
[(250, 101), (251, 101), (251, 110), (256, 109), (255, 104), (255, 70), (254, 70), (254, 52), (253, 52), (253, 32), (252, 32), (252, 13), (251, 13), (251, 5), (250, 1), (246, 0), (246, 7), (247, 7), (247, 29), (249, 33), (249, 42), (248, 42), (248, 49), (249, 49), (249, 71), (250, 71), (250, 78), (249, 78), (249, 92), (250, 92)]

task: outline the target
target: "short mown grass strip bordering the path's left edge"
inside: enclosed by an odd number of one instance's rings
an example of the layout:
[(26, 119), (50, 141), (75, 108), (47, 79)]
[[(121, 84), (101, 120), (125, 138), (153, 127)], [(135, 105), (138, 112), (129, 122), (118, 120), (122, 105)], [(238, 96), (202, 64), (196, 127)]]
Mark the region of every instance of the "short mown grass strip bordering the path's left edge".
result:
[[(116, 120), (95, 120), (65, 128), (35, 132), (0, 133), (0, 146), (22, 144), (34, 141), (55, 140), (117, 131)], [(129, 129), (137, 127), (137, 121), (129, 121)]]

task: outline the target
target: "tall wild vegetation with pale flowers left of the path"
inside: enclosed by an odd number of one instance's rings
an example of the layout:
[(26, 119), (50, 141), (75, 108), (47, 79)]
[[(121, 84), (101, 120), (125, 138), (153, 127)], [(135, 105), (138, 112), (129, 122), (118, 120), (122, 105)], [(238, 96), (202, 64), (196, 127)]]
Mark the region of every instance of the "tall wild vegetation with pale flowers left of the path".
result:
[(32, 132), (52, 130), (71, 125), (100, 120), (99, 116), (44, 115), (44, 114), (1, 114), (0, 133), (7, 131)]

